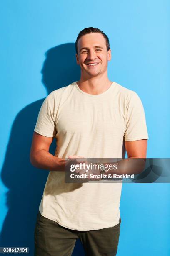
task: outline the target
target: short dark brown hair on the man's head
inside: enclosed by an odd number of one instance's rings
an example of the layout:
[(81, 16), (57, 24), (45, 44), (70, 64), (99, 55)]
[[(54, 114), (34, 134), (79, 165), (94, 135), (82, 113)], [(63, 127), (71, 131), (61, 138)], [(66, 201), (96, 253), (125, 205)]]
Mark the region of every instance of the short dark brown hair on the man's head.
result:
[(75, 51), (76, 51), (77, 54), (78, 54), (78, 52), (77, 52), (78, 40), (80, 39), (80, 37), (82, 37), (86, 34), (90, 34), (90, 33), (101, 33), (104, 36), (105, 40), (106, 40), (107, 51), (110, 50), (110, 44), (109, 44), (108, 36), (106, 36), (106, 34), (103, 31), (101, 31), (99, 28), (89, 27), (89, 28), (84, 28), (82, 31), (80, 31), (80, 33), (77, 36), (77, 39), (75, 41)]

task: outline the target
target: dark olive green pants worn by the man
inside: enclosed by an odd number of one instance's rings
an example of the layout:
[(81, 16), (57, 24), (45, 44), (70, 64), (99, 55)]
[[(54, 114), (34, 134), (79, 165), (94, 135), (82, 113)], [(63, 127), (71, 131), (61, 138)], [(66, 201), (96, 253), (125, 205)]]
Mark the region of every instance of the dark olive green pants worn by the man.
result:
[(38, 211), (35, 225), (34, 256), (71, 256), (80, 238), (86, 256), (115, 256), (120, 234), (120, 222), (115, 227), (76, 231), (60, 226)]

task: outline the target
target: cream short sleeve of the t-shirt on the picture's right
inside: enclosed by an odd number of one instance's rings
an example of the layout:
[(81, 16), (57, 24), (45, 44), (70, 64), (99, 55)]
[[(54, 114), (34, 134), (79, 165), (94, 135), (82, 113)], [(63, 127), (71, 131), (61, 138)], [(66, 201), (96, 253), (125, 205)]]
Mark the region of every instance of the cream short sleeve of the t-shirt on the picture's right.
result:
[(148, 139), (143, 104), (135, 92), (126, 108), (126, 122), (125, 141)]

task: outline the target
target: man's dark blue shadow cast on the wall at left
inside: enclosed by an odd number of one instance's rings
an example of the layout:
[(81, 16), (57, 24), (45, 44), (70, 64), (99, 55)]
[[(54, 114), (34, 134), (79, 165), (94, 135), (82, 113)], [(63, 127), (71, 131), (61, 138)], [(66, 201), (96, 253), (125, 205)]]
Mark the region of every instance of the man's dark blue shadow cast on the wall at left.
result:
[[(47, 95), (79, 80), (80, 68), (75, 60), (75, 44), (56, 46), (48, 50), (45, 56), (41, 73)], [(0, 247), (29, 247), (30, 256), (34, 254), (37, 211), (49, 173), (34, 168), (29, 160), (32, 134), (43, 100), (31, 103), (16, 116), (1, 172), (2, 182), (9, 191), (6, 194), (8, 212), (0, 233)], [(55, 141), (50, 152), (53, 153), (54, 149)], [(72, 255), (84, 255), (80, 241), (77, 241)]]

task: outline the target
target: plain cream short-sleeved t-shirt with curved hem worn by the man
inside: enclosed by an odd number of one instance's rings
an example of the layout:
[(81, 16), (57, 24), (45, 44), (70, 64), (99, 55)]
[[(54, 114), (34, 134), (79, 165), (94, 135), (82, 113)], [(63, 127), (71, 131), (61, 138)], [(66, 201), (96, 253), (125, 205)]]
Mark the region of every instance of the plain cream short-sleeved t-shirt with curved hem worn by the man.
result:
[[(138, 95), (112, 82), (104, 93), (91, 95), (76, 82), (51, 92), (34, 129), (56, 138), (55, 156), (122, 158), (124, 141), (148, 139)], [(40, 202), (41, 215), (63, 227), (88, 231), (119, 223), (122, 183), (65, 183), (65, 172), (50, 171)]]

